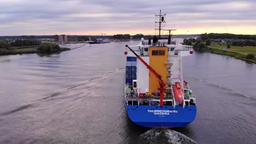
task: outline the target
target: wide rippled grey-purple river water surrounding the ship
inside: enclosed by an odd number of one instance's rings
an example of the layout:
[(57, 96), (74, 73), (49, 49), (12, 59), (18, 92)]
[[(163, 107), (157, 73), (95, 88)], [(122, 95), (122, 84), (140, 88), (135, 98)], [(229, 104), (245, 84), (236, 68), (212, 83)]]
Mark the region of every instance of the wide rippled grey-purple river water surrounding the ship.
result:
[(1, 56), (0, 143), (255, 143), (256, 65), (208, 52), (183, 58), (197, 97), (193, 123), (133, 124), (123, 103), (123, 52), (137, 43)]

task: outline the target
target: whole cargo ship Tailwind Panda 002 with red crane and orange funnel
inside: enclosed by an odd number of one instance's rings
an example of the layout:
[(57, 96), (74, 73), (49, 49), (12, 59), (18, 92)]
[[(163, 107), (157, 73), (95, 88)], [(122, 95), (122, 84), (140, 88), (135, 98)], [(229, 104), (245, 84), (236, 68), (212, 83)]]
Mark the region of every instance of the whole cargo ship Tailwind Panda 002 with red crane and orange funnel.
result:
[(124, 104), (132, 122), (143, 127), (184, 127), (196, 117), (196, 99), (183, 80), (182, 57), (193, 55), (193, 47), (161, 39), (166, 14), (155, 15), (159, 37), (138, 45), (126, 45)]

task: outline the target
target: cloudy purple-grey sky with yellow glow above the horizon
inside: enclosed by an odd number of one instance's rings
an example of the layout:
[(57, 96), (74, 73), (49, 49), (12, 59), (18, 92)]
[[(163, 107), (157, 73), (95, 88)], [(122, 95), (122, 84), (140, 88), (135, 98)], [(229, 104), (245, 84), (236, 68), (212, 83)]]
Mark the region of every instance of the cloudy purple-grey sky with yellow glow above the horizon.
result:
[(172, 34), (256, 34), (255, 8), (255, 0), (0, 0), (0, 35), (153, 35), (160, 10)]

